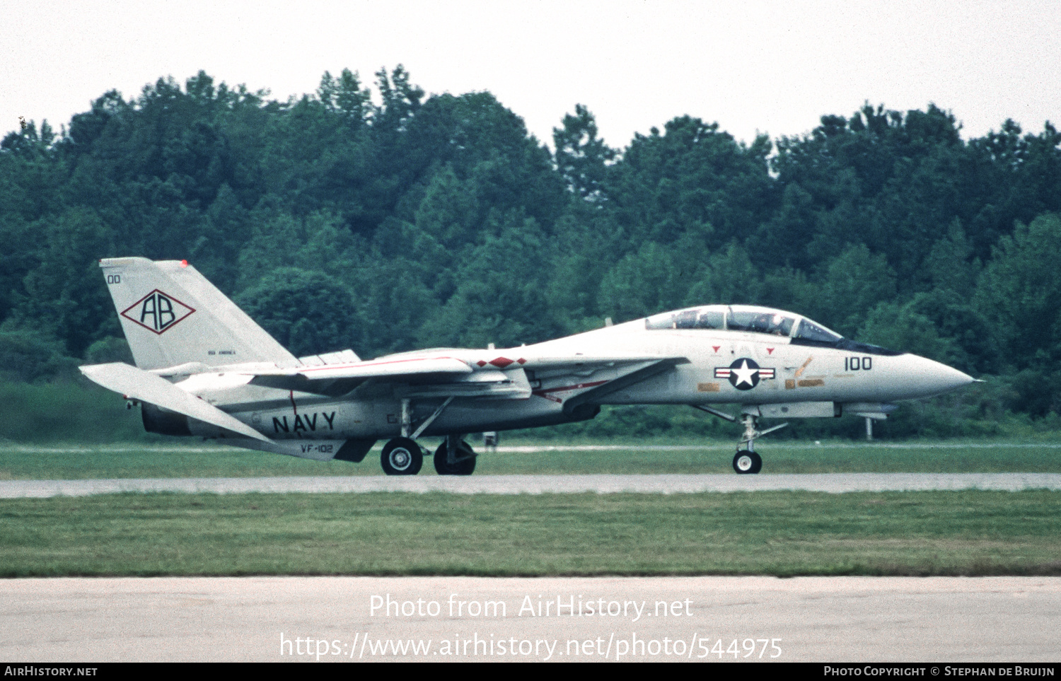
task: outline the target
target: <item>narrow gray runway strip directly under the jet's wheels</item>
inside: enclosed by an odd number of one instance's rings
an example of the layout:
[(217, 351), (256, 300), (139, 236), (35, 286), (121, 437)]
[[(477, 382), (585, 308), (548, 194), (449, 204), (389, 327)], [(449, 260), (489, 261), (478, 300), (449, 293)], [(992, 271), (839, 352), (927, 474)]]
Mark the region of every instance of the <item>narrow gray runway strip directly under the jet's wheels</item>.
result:
[(881, 492), (911, 490), (1061, 489), (1061, 473), (815, 473), (776, 475), (472, 475), (171, 477), (74, 481), (0, 481), (0, 499), (85, 496), (118, 492), (452, 492), (542, 494), (578, 492), (741, 492), (803, 490)]

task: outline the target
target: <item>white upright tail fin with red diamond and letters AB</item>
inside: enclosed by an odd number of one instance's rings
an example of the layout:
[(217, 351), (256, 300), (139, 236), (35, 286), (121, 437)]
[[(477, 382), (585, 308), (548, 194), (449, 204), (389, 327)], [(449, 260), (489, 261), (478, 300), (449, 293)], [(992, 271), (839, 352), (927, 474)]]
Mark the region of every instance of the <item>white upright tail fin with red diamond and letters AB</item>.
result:
[(141, 369), (298, 360), (186, 261), (100, 261), (133, 359)]

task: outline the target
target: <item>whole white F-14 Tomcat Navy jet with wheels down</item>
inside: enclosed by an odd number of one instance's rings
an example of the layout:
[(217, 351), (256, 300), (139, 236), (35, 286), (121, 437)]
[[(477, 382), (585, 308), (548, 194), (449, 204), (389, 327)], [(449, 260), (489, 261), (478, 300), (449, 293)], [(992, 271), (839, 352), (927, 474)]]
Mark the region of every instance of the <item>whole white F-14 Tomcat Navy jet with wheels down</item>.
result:
[[(436, 348), (363, 361), (296, 357), (186, 261), (100, 261), (136, 367), (81, 367), (139, 403), (152, 433), (312, 459), (361, 461), (387, 440), (389, 475), (467, 475), (468, 433), (591, 419), (604, 404), (688, 404), (744, 425), (737, 473), (758, 473), (759, 419), (885, 418), (897, 400), (973, 381), (945, 365), (841, 337), (798, 314), (705, 305), (506, 349)], [(715, 404), (741, 405), (740, 417)]]

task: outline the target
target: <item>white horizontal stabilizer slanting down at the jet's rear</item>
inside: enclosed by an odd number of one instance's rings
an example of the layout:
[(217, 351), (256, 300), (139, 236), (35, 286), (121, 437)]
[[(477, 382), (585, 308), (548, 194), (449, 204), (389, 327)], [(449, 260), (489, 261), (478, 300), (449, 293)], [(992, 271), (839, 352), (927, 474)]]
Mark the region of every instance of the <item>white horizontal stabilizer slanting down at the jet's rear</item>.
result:
[(121, 392), (125, 397), (154, 404), (163, 409), (184, 414), (243, 437), (250, 437), (263, 442), (273, 441), (212, 404), (208, 404), (190, 392), (185, 392), (166, 379), (149, 371), (121, 362), (93, 364), (80, 368), (81, 372), (89, 380), (99, 383), (108, 390)]

